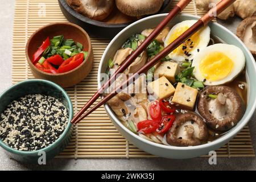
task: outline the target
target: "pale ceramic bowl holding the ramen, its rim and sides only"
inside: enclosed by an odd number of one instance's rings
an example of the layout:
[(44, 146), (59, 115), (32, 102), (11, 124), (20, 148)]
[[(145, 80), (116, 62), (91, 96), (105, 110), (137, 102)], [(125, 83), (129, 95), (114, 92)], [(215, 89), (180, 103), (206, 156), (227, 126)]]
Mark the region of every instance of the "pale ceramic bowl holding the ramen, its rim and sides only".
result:
[[(108, 60), (114, 56), (115, 52), (122, 46), (127, 38), (129, 38), (134, 33), (141, 32), (145, 28), (156, 27), (158, 23), (166, 16), (167, 14), (159, 14), (148, 16), (147, 18), (138, 20), (130, 26), (127, 26), (123, 29), (119, 34), (117, 34), (112, 42), (106, 48), (100, 62), (100, 66), (98, 69), (98, 87), (101, 86), (100, 83), (100, 73), (105, 73), (106, 68), (108, 67)], [(191, 20), (191, 19), (199, 19), (198, 16), (189, 15), (189, 14), (180, 14), (177, 15), (174, 20), (170, 22), (170, 25), (182, 22), (183, 20)], [(210, 23), (210, 30), (212, 35), (218, 36), (218, 38), (224, 40), (224, 42), (228, 44), (233, 44), (237, 47), (240, 47), (245, 53), (246, 57), (246, 77), (248, 83), (248, 104), (246, 107), (245, 114), (238, 124), (233, 127), (227, 134), (222, 137), (214, 140), (213, 142), (201, 144), (200, 146), (189, 146), (189, 147), (175, 147), (175, 146), (164, 146), (163, 144), (158, 144), (154, 142), (150, 142), (146, 139), (139, 137), (138, 135), (132, 133), (129, 129), (127, 129), (115, 116), (113, 111), (110, 109), (108, 105), (105, 105), (106, 112), (108, 113), (110, 119), (112, 120), (115, 127), (117, 127), (118, 131), (127, 139), (129, 142), (133, 143), (141, 150), (146, 151), (153, 155), (162, 156), (164, 158), (172, 158), (172, 159), (187, 159), (194, 158), (196, 156), (208, 154), (209, 151), (217, 150), (229, 140), (239, 133), (239, 131), (249, 122), (249, 119), (253, 115), (256, 106), (256, 64), (253, 56), (250, 51), (245, 47), (245, 45), (241, 42), (240, 39), (237, 38), (231, 31), (227, 28), (221, 26), (217, 23)]]

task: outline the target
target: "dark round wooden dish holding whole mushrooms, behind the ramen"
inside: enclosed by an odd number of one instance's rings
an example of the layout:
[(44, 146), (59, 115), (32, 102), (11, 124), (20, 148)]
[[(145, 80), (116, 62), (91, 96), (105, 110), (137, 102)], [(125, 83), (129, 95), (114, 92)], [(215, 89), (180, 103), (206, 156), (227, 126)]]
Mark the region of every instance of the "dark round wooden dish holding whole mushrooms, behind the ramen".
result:
[[(170, 11), (171, 1), (172, 0), (164, 0), (163, 6), (159, 10), (158, 14), (167, 13)], [(70, 6), (68, 6), (66, 0), (59, 0), (59, 6), (69, 22), (76, 23), (84, 28), (84, 30), (86, 30), (90, 35), (100, 36), (101, 38), (114, 38), (119, 31), (139, 19), (137, 17), (122, 14), (117, 7), (115, 7), (112, 14), (100, 22), (77, 13)], [(143, 17), (144, 16), (141, 18)]]

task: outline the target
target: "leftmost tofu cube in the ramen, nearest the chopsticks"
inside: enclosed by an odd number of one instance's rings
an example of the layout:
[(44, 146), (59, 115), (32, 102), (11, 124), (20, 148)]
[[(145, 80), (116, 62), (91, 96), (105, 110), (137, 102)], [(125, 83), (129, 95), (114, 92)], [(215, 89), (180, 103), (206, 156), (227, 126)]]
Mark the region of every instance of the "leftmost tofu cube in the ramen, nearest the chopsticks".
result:
[(156, 99), (160, 100), (172, 96), (175, 88), (165, 76), (162, 76), (158, 80), (148, 83), (147, 91), (149, 94), (154, 95)]

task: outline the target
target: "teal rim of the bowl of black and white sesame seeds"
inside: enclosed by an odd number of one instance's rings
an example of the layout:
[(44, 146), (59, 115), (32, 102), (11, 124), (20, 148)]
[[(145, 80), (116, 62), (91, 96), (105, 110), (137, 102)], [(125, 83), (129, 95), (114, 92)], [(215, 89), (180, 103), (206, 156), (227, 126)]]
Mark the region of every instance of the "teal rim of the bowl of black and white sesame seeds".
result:
[(11, 89), (15, 89), (17, 88), (18, 86), (22, 85), (22, 84), (26, 84), (27, 82), (44, 82), (45, 84), (48, 84), (48, 85), (52, 85), (54, 86), (57, 90), (60, 90), (61, 93), (63, 93), (65, 99), (67, 100), (68, 102), (68, 107), (69, 107), (69, 111), (68, 111), (68, 114), (69, 114), (69, 118), (68, 118), (68, 126), (65, 128), (63, 134), (61, 134), (60, 138), (58, 138), (55, 142), (53, 142), (51, 145), (49, 145), (48, 147), (46, 148), (42, 148), (40, 150), (36, 150), (36, 151), (19, 151), (19, 150), (15, 150), (14, 148), (11, 148), (9, 147), (7, 144), (3, 143), (2, 140), (0, 139), (0, 146), (3, 147), (5, 150), (7, 150), (8, 152), (11, 152), (13, 154), (16, 154), (16, 155), (27, 155), (27, 156), (32, 156), (32, 155), (38, 155), (38, 152), (40, 151), (44, 151), (44, 152), (47, 152), (47, 151), (51, 151), (55, 148), (56, 144), (59, 144), (61, 142), (63, 142), (63, 139), (65, 138), (65, 136), (69, 133), (69, 130), (71, 129), (72, 127), (72, 123), (71, 123), (71, 120), (73, 118), (73, 104), (72, 104), (72, 101), (71, 99), (69, 98), (67, 92), (65, 92), (65, 90), (63, 88), (61, 88), (61, 86), (55, 84), (54, 82), (52, 81), (48, 81), (48, 80), (42, 80), (42, 79), (30, 79), (30, 80), (24, 80), (24, 81), (20, 81), (18, 82), (17, 84), (13, 85), (13, 86), (10, 86), (9, 88), (7, 88), (1, 95), (0, 95), (0, 98), (3, 97), (7, 92), (9, 92)]

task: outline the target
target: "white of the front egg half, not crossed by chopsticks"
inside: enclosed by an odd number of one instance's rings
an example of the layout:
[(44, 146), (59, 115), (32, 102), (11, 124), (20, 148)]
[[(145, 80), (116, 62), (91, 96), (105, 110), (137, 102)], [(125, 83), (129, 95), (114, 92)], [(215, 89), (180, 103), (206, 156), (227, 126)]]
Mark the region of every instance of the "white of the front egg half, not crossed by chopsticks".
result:
[(229, 44), (214, 44), (208, 46), (207, 48), (202, 49), (193, 59), (192, 67), (195, 67), (193, 73), (197, 80), (203, 81), (204, 76), (200, 72), (200, 62), (211, 52), (222, 52), (224, 55), (228, 56), (234, 63), (232, 71), (228, 76), (217, 81), (208, 81), (204, 82), (205, 85), (222, 85), (227, 82), (230, 82), (236, 78), (243, 68), (245, 67), (245, 55), (242, 50), (236, 46)]

